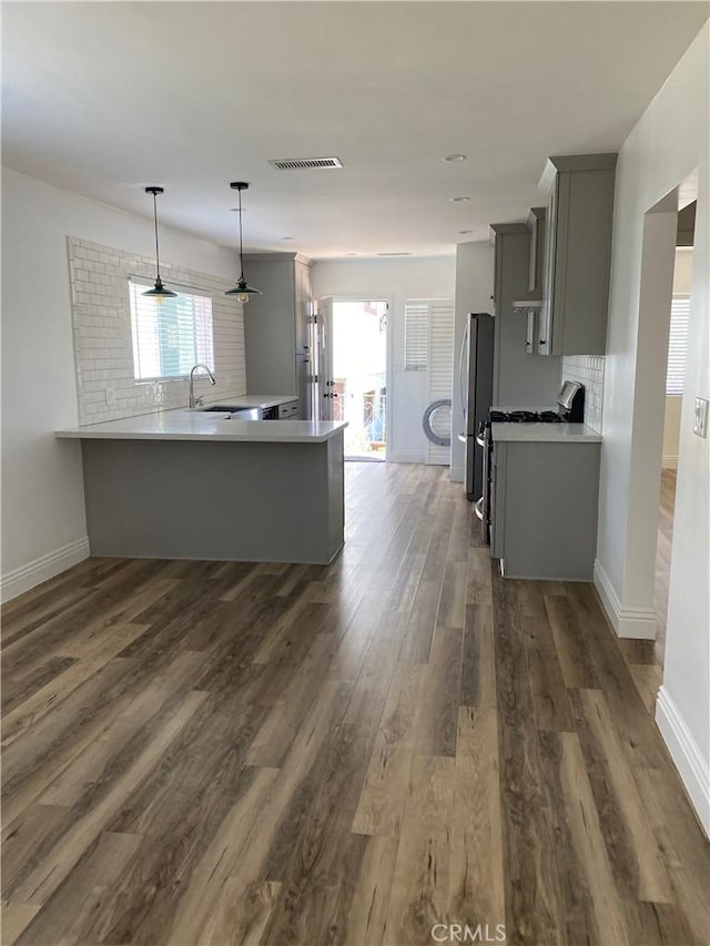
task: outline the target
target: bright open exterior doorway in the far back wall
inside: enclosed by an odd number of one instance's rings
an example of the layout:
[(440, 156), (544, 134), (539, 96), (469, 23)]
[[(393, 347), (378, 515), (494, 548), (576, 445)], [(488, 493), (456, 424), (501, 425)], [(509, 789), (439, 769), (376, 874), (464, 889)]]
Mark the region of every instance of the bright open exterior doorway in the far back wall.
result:
[(346, 460), (387, 457), (386, 299), (333, 301), (333, 419), (346, 420)]

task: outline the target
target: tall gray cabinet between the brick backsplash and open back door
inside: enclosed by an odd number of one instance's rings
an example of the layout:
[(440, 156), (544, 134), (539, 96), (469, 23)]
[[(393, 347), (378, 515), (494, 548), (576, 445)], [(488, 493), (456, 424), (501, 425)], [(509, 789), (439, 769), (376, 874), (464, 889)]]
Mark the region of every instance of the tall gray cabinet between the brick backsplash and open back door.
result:
[[(248, 254), (250, 285), (263, 295), (244, 306), (248, 394), (293, 394), (301, 399), (308, 359), (311, 263), (296, 253)], [(302, 405), (302, 416), (307, 416)]]

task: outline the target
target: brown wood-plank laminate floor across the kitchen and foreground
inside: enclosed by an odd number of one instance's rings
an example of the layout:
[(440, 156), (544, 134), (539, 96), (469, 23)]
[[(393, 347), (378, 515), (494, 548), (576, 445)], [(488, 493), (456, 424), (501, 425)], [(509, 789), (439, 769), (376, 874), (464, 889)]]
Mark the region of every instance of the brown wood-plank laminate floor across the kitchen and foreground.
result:
[(708, 943), (591, 588), (503, 581), (443, 468), (346, 485), (331, 567), (90, 559), (6, 608), (3, 946)]

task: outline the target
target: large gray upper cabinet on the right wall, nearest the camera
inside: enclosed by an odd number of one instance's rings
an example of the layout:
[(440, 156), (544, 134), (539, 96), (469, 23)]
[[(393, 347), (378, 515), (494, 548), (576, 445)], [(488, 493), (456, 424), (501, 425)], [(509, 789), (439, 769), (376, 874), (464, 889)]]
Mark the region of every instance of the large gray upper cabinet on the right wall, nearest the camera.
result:
[(541, 355), (604, 355), (616, 154), (548, 159)]

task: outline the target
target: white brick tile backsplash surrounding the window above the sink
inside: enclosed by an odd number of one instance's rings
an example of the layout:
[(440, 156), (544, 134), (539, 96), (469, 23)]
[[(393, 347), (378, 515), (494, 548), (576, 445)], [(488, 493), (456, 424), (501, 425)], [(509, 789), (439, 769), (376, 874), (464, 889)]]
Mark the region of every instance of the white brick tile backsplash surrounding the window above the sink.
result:
[[(119, 420), (159, 409), (186, 407), (189, 383), (136, 382), (133, 376), (129, 276), (153, 281), (155, 261), (109, 246), (68, 237), (69, 271), (74, 326), (74, 359), (79, 423)], [(161, 261), (170, 282), (195, 286), (212, 296), (214, 376), (211, 387), (195, 377), (195, 390), (205, 403), (246, 394), (244, 318), (242, 306), (224, 296), (232, 283)], [(105, 391), (114, 403), (109, 407)]]

